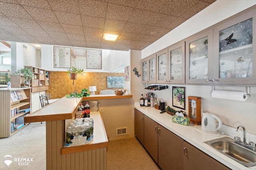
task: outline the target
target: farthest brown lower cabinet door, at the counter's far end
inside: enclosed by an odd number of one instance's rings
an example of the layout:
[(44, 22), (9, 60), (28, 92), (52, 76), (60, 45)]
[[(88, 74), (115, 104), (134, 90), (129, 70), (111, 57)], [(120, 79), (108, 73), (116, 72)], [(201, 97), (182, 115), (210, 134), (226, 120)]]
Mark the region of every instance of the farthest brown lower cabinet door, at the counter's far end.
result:
[(134, 133), (140, 143), (144, 145), (144, 114), (134, 109)]

